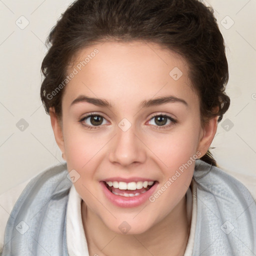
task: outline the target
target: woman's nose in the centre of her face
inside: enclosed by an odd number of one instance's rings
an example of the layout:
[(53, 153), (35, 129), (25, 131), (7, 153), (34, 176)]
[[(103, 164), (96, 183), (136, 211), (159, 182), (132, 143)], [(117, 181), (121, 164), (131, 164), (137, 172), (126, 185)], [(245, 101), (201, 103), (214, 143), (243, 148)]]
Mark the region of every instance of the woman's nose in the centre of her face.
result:
[(146, 148), (131, 126), (123, 131), (116, 127), (117, 134), (110, 144), (109, 161), (128, 166), (131, 163), (143, 163), (146, 159)]

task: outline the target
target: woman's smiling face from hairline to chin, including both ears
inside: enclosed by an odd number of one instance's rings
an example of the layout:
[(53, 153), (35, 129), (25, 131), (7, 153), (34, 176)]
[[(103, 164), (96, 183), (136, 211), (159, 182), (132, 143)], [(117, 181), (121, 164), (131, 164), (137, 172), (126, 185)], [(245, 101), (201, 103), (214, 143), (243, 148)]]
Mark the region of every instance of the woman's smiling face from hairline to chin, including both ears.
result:
[(139, 41), (92, 45), (69, 66), (54, 135), (87, 210), (114, 232), (172, 214), (209, 147), (216, 121), (201, 126), (188, 71), (176, 53)]

